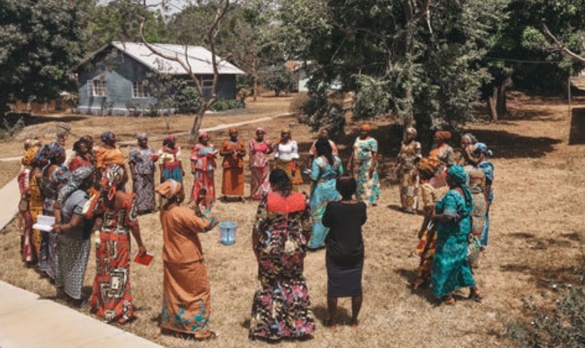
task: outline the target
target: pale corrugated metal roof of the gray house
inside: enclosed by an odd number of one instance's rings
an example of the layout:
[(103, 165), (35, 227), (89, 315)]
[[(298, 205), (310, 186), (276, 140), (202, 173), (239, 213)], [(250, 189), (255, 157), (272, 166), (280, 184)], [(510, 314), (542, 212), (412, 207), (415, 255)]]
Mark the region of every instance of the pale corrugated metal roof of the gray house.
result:
[[(159, 70), (159, 67), (164, 66), (165, 72), (173, 75), (187, 74), (182, 66), (175, 62), (169, 61), (165, 58), (157, 56), (150, 52), (142, 42), (112, 42), (111, 45), (116, 49), (143, 63), (148, 68)], [(187, 47), (187, 59), (194, 74), (213, 74), (212, 55), (207, 49), (201, 46), (185, 46), (185, 45), (169, 45), (169, 44), (150, 44), (155, 49), (158, 49), (162, 54), (168, 56), (176, 56), (185, 61), (185, 47)], [(217, 69), (219, 74), (245, 74), (235, 65), (227, 61), (221, 61), (219, 56), (217, 58)]]

